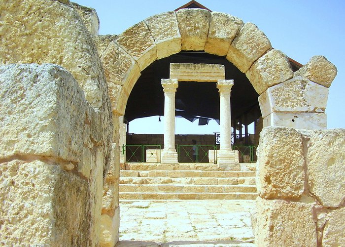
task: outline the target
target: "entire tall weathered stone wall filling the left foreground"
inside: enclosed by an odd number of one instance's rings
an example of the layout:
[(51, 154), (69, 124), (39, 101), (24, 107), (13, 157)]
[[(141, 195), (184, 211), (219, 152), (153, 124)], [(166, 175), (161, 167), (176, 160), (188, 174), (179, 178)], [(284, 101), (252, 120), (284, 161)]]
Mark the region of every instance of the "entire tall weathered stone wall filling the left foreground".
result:
[[(1, 241), (7, 245), (98, 245), (102, 178), (110, 165), (113, 131), (104, 70), (91, 38), (97, 34), (98, 17), (94, 10), (69, 0), (4, 0), (0, 12), (0, 64), (64, 67), (3, 68), (7, 77), (12, 76), (1, 82), (9, 85), (1, 95), (1, 102), (8, 106), (0, 114), (1, 132), (8, 137), (0, 142), (1, 183), (13, 184), (6, 195), (12, 201), (21, 196), (13, 204), (7, 200), (3, 207)], [(56, 88), (51, 86), (54, 83)], [(78, 93), (69, 95), (65, 87)], [(16, 182), (21, 176), (33, 179)], [(41, 205), (47, 210), (36, 212)], [(28, 221), (14, 231), (16, 215)]]

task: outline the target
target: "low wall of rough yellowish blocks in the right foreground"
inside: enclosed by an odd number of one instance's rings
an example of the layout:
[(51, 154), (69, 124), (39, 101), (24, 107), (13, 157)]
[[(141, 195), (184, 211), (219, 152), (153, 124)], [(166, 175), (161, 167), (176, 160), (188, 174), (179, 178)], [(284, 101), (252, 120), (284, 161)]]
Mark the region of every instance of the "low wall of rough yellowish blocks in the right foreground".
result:
[(257, 246), (345, 242), (345, 129), (266, 127), (257, 162)]

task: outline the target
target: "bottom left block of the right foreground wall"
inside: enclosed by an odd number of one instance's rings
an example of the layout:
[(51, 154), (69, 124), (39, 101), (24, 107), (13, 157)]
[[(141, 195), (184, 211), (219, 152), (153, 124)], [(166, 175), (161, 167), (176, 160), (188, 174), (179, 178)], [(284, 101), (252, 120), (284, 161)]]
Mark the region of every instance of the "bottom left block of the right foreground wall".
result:
[(312, 204), (258, 197), (255, 245), (317, 246)]

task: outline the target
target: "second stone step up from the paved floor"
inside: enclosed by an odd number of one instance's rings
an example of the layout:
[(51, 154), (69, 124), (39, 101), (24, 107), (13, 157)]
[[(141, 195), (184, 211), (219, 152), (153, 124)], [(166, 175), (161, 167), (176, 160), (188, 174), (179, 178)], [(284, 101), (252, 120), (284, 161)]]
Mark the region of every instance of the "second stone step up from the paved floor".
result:
[(255, 185), (121, 184), (121, 192), (234, 193), (256, 192)]

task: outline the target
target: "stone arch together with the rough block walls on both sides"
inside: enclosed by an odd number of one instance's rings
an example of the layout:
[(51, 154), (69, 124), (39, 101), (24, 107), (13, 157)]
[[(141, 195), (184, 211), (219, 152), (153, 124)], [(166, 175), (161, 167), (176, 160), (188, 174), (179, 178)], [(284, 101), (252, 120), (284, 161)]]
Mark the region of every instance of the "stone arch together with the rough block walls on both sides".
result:
[(345, 243), (345, 130), (326, 129), (325, 57), (294, 72), (254, 24), (200, 8), (105, 36), (69, 0), (4, 0), (0, 13), (1, 245), (116, 244), (120, 120), (141, 72), (181, 50), (226, 57), (260, 95), (255, 245)]

